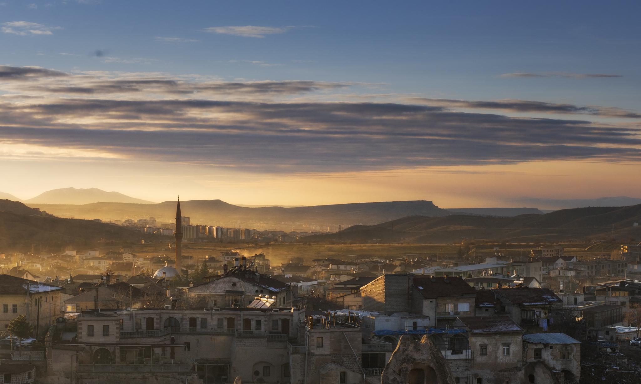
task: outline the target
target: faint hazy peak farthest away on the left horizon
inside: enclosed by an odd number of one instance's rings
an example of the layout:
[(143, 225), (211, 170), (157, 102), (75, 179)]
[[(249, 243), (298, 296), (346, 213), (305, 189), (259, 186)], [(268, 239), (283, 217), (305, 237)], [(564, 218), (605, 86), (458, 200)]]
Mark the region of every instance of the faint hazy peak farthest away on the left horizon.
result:
[(104, 201), (106, 203), (156, 204), (153, 201), (135, 199), (119, 192), (106, 192), (98, 188), (76, 189), (60, 188), (43, 192), (33, 199), (24, 202), (31, 204), (90, 204)]

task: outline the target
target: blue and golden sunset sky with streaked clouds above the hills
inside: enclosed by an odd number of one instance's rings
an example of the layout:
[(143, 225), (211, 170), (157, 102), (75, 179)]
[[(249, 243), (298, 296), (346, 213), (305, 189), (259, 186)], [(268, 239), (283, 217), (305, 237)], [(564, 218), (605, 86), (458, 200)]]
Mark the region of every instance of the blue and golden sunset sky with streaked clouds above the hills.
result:
[(641, 4), (0, 0), (0, 192), (641, 197)]

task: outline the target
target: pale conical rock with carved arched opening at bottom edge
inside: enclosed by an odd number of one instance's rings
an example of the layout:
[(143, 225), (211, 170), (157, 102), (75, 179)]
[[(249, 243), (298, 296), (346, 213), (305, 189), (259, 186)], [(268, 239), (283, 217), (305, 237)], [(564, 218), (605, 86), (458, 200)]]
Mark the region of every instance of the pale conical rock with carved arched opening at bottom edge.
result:
[(420, 341), (401, 336), (381, 377), (382, 384), (454, 384), (449, 365), (440, 349), (424, 335)]

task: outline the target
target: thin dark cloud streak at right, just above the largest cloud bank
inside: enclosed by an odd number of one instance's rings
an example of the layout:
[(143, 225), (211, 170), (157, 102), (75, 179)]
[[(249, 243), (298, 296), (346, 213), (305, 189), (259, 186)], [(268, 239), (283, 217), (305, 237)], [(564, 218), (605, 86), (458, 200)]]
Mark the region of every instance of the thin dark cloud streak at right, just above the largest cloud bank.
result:
[(495, 101), (467, 101), (449, 99), (428, 99), (425, 97), (405, 97), (404, 101), (450, 108), (471, 108), (483, 110), (503, 110), (508, 112), (561, 113), (595, 115), (601, 117), (626, 117), (641, 119), (641, 114), (615, 107), (576, 106), (573, 104), (544, 103), (542, 101), (503, 99)]

